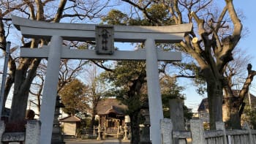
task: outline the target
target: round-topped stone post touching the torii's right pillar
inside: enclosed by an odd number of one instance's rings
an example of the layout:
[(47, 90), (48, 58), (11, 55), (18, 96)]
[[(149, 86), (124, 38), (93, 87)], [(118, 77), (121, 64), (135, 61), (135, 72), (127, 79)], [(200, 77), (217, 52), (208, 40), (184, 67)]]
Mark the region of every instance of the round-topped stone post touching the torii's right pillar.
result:
[(162, 144), (172, 144), (173, 143), (172, 121), (169, 118), (163, 118), (160, 123), (161, 123)]

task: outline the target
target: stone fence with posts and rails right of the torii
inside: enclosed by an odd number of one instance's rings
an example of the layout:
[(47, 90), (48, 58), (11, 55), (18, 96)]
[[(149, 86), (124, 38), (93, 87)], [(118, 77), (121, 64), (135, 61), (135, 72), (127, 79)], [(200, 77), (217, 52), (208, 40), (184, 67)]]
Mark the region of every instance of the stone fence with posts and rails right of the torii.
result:
[(223, 122), (217, 122), (217, 130), (205, 131), (203, 121), (191, 120), (191, 131), (174, 131), (170, 119), (161, 121), (163, 144), (186, 144), (188, 139), (192, 144), (254, 144), (256, 142), (256, 130), (249, 129), (248, 124), (244, 129), (226, 130)]

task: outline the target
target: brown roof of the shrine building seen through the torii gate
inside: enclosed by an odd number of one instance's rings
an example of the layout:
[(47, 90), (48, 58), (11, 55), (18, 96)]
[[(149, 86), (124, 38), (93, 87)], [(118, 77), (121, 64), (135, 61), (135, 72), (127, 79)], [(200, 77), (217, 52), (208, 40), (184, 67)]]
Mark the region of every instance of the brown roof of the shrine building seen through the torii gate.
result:
[(127, 109), (127, 105), (122, 104), (118, 99), (102, 99), (96, 107), (97, 115), (108, 115), (109, 113), (124, 115)]

